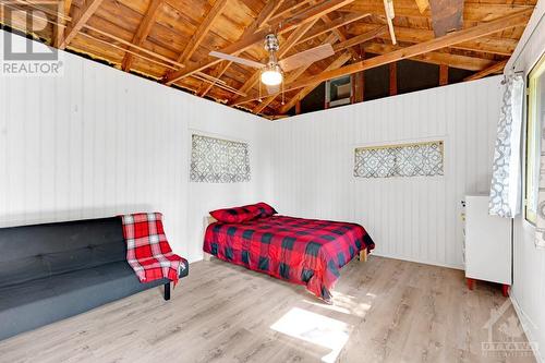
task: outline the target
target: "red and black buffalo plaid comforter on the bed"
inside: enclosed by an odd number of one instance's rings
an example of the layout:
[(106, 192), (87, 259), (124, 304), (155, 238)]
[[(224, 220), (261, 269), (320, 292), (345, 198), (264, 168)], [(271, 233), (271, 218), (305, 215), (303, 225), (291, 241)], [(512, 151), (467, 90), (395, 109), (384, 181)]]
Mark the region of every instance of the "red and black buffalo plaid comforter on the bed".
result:
[(363, 249), (374, 247), (360, 225), (271, 216), (211, 223), (203, 250), (219, 259), (305, 285), (328, 300), (339, 269)]

